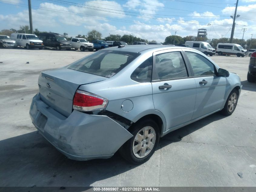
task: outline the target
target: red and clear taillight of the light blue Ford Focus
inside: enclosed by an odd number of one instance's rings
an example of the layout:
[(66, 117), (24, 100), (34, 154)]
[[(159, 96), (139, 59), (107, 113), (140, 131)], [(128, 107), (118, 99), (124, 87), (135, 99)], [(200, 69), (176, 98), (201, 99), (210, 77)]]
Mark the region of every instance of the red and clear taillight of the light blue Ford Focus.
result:
[(107, 106), (108, 99), (98, 95), (77, 90), (73, 99), (73, 109), (79, 111), (93, 111), (104, 109)]

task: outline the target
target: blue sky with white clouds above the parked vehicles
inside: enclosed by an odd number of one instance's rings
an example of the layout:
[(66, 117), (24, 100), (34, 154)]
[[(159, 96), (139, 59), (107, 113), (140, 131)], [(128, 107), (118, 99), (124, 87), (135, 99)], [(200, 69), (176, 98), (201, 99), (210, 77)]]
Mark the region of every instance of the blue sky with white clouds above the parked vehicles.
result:
[[(96, 29), (102, 37), (132, 34), (164, 42), (169, 35), (230, 37), (236, 0), (32, 0), (33, 28), (68, 36)], [(0, 30), (29, 25), (27, 0), (0, 0)], [(239, 0), (234, 38), (256, 38), (256, 0)], [(211, 24), (211, 25), (210, 25)]]

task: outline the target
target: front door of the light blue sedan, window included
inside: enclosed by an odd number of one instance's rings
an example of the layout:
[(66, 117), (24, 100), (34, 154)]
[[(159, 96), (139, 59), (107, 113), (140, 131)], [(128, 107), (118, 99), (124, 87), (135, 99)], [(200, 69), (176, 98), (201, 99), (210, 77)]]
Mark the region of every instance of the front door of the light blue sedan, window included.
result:
[(196, 83), (196, 102), (192, 119), (221, 109), (224, 102), (226, 78), (217, 75), (214, 64), (195, 51), (185, 51)]

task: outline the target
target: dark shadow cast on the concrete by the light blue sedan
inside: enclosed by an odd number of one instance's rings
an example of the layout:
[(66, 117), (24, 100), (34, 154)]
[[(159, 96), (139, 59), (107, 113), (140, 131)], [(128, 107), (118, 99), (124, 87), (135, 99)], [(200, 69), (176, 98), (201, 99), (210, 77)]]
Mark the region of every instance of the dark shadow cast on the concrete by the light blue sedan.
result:
[[(158, 150), (222, 118), (224, 116), (215, 113), (175, 130), (160, 139)], [(106, 160), (70, 160), (38, 131), (0, 141), (0, 157), (2, 187), (90, 186), (137, 167), (127, 163), (118, 153)]]

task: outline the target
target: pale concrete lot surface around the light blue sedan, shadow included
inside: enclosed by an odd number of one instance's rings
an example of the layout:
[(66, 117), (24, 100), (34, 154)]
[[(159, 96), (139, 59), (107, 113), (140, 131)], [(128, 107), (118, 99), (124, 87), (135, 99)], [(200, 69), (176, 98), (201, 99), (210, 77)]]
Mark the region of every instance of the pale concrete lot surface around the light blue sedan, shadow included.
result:
[(210, 57), (241, 77), (243, 90), (231, 116), (216, 113), (169, 133), (160, 139), (148, 162), (135, 166), (119, 154), (107, 160), (69, 160), (31, 123), (29, 107), (38, 91), (40, 72), (88, 54), (91, 52), (0, 49), (1, 187), (256, 187), (256, 83), (246, 80), (249, 57)]

